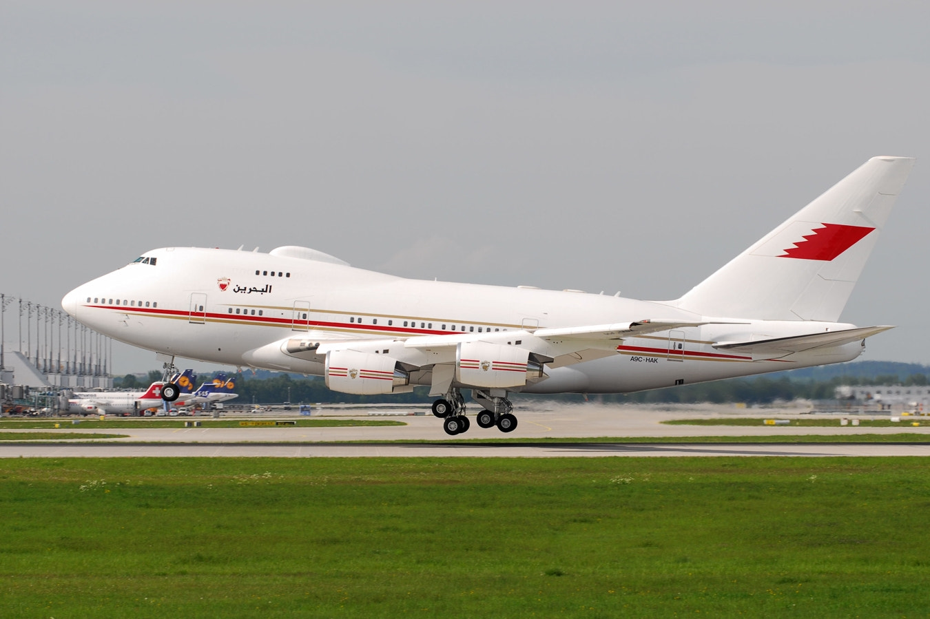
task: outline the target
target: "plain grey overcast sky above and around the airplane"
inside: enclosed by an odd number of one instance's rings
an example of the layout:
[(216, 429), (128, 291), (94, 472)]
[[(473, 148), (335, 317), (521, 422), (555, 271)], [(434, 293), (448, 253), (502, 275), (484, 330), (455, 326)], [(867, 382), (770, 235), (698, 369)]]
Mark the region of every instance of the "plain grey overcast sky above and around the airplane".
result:
[(303, 244), (674, 298), (910, 155), (843, 320), (899, 325), (866, 359), (930, 363), (930, 5), (810, 4), (0, 2), (0, 292)]

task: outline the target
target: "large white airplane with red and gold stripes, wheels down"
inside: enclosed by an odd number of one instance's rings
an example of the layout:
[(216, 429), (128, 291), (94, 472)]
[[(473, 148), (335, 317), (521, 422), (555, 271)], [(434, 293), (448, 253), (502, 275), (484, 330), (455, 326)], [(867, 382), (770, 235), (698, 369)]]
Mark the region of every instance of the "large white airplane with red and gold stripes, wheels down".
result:
[[(856, 359), (890, 326), (837, 323), (913, 160), (874, 157), (680, 298), (409, 280), (305, 247), (166, 247), (61, 300), (174, 357), (323, 375), (356, 394), (429, 386), (445, 431), (516, 427), (507, 396), (623, 393)], [(163, 389), (173, 395), (170, 385)]]

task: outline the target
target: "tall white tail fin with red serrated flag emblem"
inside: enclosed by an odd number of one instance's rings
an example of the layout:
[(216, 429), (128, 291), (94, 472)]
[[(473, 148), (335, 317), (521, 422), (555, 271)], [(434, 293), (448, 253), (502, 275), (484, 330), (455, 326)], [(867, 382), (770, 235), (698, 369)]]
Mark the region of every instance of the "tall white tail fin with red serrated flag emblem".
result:
[(704, 316), (835, 323), (913, 163), (872, 157), (671, 305)]

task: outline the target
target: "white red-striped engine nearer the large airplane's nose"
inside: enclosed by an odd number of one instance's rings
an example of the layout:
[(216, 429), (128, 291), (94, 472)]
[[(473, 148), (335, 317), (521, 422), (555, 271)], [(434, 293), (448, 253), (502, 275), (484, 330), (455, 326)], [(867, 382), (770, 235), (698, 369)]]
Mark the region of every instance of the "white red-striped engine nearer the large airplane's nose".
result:
[(410, 375), (396, 359), (357, 350), (330, 350), (326, 353), (326, 387), (357, 395), (413, 389)]

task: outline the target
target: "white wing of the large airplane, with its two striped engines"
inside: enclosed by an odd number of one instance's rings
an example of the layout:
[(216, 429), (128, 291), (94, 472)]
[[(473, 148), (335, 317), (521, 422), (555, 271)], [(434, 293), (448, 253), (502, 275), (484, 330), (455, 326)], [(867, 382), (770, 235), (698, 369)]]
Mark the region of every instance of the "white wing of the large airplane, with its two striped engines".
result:
[(558, 368), (615, 355), (625, 337), (702, 324), (708, 322), (644, 319), (484, 333), (341, 339), (329, 332), (306, 332), (250, 350), (243, 358), (259, 367), (292, 372), (299, 362), (323, 364), (326, 386), (345, 393), (398, 393), (424, 382), (432, 384), (432, 394), (445, 393), (453, 383), (478, 389), (513, 389), (545, 378), (544, 365)]

